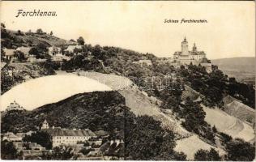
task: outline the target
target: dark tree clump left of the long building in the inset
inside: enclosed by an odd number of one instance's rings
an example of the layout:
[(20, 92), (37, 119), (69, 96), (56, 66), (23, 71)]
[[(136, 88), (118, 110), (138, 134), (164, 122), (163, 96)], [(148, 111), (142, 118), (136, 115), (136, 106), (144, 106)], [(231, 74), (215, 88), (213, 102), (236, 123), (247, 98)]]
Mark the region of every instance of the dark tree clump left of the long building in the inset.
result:
[(46, 149), (51, 149), (53, 147), (53, 143), (50, 140), (50, 135), (44, 131), (37, 131), (36, 133), (32, 133), (32, 135), (26, 135), (23, 138), (23, 141), (40, 144)]

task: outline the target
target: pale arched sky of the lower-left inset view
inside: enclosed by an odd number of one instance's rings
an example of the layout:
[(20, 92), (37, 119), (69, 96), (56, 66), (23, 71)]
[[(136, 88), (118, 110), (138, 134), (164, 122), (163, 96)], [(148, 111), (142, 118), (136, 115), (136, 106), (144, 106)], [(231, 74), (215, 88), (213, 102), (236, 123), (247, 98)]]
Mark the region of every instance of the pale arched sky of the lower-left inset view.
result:
[(0, 97), (0, 109), (5, 110), (14, 100), (24, 109), (32, 110), (45, 104), (64, 100), (83, 92), (112, 91), (111, 87), (94, 79), (77, 75), (49, 75), (28, 80)]

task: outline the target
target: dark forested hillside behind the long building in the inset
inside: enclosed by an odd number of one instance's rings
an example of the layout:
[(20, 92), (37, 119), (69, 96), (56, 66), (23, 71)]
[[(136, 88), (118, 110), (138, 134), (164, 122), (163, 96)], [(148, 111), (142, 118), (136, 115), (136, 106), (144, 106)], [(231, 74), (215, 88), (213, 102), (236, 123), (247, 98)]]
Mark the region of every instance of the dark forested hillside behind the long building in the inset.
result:
[(118, 92), (91, 92), (22, 113), (2, 116), (1, 131), (37, 130), (46, 119), (51, 126), (69, 129), (123, 130), (125, 100)]

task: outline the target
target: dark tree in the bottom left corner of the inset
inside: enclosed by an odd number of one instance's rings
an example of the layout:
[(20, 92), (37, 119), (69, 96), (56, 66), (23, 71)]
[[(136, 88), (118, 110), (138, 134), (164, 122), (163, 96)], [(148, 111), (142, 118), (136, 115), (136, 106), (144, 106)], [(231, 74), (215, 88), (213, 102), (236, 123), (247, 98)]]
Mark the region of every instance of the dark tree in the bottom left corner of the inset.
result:
[(18, 152), (12, 142), (6, 140), (1, 141), (1, 159), (2, 160), (15, 160), (17, 159)]

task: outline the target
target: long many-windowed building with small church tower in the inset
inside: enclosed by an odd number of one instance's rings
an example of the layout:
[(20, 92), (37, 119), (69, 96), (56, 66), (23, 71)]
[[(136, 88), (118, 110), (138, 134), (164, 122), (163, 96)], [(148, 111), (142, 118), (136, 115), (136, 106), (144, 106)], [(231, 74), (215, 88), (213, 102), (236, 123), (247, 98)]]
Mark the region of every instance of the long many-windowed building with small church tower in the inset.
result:
[(69, 130), (54, 126), (49, 127), (46, 120), (43, 122), (41, 130), (50, 134), (53, 147), (60, 145), (76, 145), (78, 142), (85, 142), (91, 138), (96, 138), (96, 134), (94, 134), (92, 130)]

